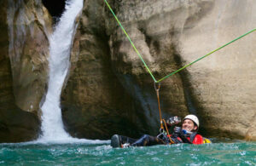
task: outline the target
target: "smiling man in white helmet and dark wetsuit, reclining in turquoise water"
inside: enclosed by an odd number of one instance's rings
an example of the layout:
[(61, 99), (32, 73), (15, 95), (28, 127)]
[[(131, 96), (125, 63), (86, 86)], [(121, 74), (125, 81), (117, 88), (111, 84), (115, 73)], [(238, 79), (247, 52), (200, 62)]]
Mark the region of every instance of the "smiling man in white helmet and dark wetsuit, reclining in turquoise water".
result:
[(172, 135), (166, 135), (166, 132), (162, 131), (160, 135), (143, 135), (138, 140), (122, 135), (113, 135), (111, 138), (111, 146), (154, 146), (178, 143), (203, 144), (203, 137), (197, 134), (198, 129), (198, 118), (195, 115), (188, 115), (183, 118), (182, 128), (175, 127)]

